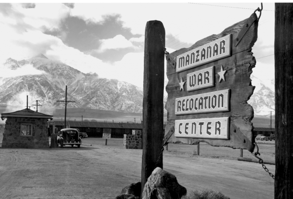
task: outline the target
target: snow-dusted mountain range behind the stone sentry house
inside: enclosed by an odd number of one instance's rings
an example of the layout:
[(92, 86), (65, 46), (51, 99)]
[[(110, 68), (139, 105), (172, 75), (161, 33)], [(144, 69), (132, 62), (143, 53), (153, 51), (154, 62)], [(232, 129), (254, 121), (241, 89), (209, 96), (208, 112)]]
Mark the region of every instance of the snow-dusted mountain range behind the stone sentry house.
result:
[(1, 69), (17, 72), (29, 67), (39, 73), (0, 77), (0, 103), (23, 107), (28, 95), (31, 103), (39, 100), (42, 107), (64, 108), (63, 102), (56, 101), (65, 100), (67, 85), (67, 100), (75, 101), (68, 103), (68, 107), (142, 112), (141, 88), (115, 79), (99, 78), (96, 73), (82, 73), (43, 54), (21, 61), (9, 58)]

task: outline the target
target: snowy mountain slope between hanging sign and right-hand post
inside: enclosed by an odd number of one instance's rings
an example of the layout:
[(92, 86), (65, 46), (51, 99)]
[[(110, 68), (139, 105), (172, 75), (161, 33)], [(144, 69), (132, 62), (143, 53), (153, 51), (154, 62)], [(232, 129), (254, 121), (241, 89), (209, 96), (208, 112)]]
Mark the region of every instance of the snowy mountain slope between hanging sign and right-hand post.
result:
[(275, 80), (264, 83), (253, 75), (250, 78), (255, 89), (247, 103), (253, 107), (254, 114), (268, 116), (270, 111), (275, 114)]

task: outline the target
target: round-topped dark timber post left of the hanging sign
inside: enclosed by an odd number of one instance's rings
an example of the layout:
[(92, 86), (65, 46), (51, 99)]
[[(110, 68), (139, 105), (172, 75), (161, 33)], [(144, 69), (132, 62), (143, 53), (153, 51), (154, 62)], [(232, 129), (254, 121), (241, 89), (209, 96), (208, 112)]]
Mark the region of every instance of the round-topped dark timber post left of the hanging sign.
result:
[[(161, 36), (160, 36), (161, 35)], [(163, 42), (162, 42), (163, 40)], [(142, 191), (156, 167), (163, 169), (163, 91), (164, 91), (165, 28), (161, 21), (148, 21), (144, 39), (144, 98)]]

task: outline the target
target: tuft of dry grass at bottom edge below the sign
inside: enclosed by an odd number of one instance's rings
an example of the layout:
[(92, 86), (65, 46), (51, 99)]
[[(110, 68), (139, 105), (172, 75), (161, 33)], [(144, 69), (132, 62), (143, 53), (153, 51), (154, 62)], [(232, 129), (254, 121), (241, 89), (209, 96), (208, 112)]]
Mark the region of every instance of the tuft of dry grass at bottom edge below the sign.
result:
[(201, 190), (193, 191), (182, 196), (181, 199), (230, 199), (219, 191)]

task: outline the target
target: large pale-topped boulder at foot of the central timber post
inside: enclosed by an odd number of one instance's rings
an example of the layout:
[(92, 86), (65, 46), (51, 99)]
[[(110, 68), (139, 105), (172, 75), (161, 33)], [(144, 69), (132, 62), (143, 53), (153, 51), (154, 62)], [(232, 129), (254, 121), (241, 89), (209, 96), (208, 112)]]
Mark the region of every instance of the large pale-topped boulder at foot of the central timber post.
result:
[(144, 185), (142, 199), (179, 199), (185, 194), (186, 188), (178, 183), (176, 176), (157, 167)]

